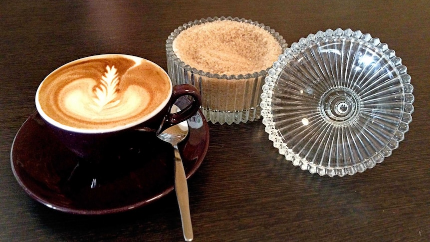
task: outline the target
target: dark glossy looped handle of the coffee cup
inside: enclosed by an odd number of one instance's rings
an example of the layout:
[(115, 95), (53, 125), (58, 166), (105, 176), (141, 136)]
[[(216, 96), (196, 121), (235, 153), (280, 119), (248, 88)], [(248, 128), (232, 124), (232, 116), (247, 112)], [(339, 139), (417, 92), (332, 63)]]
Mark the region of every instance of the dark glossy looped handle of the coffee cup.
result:
[[(175, 102), (182, 96), (190, 96), (192, 98), (191, 103), (187, 107), (182, 108), (181, 111), (177, 113), (170, 113), (173, 104), (175, 104)], [(166, 115), (161, 130), (167, 129), (173, 125), (179, 124), (193, 117), (199, 111), (200, 105), (202, 105), (202, 98), (200, 96), (199, 90), (197, 90), (195, 86), (190, 84), (181, 84), (173, 86), (169, 112)]]

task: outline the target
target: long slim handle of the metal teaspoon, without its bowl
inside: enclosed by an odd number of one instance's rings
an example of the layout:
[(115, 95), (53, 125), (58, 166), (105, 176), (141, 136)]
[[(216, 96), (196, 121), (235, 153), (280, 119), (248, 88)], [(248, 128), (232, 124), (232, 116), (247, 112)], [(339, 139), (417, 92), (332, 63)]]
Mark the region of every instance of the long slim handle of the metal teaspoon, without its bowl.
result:
[(179, 212), (181, 213), (182, 232), (185, 241), (193, 240), (193, 227), (191, 225), (190, 202), (188, 199), (187, 177), (178, 146), (175, 145), (175, 191), (178, 199)]

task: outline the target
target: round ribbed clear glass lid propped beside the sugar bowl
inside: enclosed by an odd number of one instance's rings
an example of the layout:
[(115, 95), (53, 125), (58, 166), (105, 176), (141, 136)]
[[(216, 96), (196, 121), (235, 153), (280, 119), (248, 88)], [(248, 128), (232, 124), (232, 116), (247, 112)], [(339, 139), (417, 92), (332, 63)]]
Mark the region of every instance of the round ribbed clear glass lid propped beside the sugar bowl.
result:
[(319, 175), (383, 162), (409, 130), (413, 86), (395, 51), (368, 33), (328, 29), (301, 38), (268, 71), (261, 115), (286, 160)]

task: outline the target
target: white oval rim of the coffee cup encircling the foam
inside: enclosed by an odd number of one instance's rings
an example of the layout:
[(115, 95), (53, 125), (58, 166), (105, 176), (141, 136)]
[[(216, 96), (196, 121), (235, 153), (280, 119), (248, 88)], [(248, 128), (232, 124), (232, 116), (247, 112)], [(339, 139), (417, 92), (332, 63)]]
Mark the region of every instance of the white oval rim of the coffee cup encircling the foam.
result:
[[(124, 125), (117, 125), (117, 126), (111, 127), (111, 128), (100, 128), (100, 129), (76, 128), (76, 127), (65, 125), (65, 124), (62, 124), (62, 123), (56, 121), (55, 119), (49, 117), (43, 111), (43, 109), (42, 109), (42, 107), (41, 107), (41, 105), (40, 105), (40, 103), (38, 101), (39, 100), (39, 92), (40, 92), (41, 86), (43, 85), (44, 81), (49, 76), (51, 76), (56, 71), (58, 71), (58, 70), (60, 70), (60, 69), (62, 69), (64, 67), (66, 67), (68, 65), (77, 63), (77, 62), (85, 61), (87, 59), (92, 59), (92, 58), (106, 58), (106, 57), (112, 57), (112, 56), (122, 56), (122, 57), (125, 57), (125, 58), (133, 59), (136, 62), (137, 61), (147, 61), (148, 63), (153, 64), (154, 67), (159, 68), (162, 71), (162, 73), (164, 73), (166, 75), (166, 77), (169, 79), (169, 83), (170, 83), (170, 90), (169, 90), (169, 94), (166, 97), (166, 99), (156, 109), (154, 109), (151, 113), (149, 113), (149, 114), (147, 114), (147, 115), (145, 115), (143, 117), (140, 117), (139, 119), (136, 119), (133, 122), (129, 122), (129, 123), (124, 124)], [(148, 121), (149, 119), (153, 118), (158, 113), (160, 113), (163, 110), (164, 107), (166, 107), (166, 105), (169, 103), (169, 101), (170, 101), (170, 99), (172, 97), (172, 92), (173, 92), (173, 84), (172, 84), (172, 80), (171, 80), (169, 74), (161, 66), (159, 66), (155, 62), (150, 61), (150, 60), (145, 59), (145, 58), (142, 58), (142, 57), (139, 57), (139, 56), (134, 56), (134, 55), (129, 55), (129, 54), (108, 53), (108, 54), (98, 54), (98, 55), (91, 55), (91, 56), (82, 57), (82, 58), (79, 58), (79, 59), (67, 62), (67, 63), (65, 63), (65, 64), (57, 67), (55, 70), (53, 70), (52, 72), (50, 72), (45, 78), (43, 78), (42, 82), (40, 82), (39, 86), (37, 87), (37, 91), (36, 91), (36, 95), (35, 95), (35, 104), (36, 104), (37, 112), (40, 114), (40, 116), (46, 122), (48, 122), (49, 124), (51, 124), (51, 125), (59, 128), (59, 129), (70, 131), (70, 132), (75, 132), (75, 133), (101, 134), (101, 133), (111, 133), (111, 132), (125, 130), (125, 129), (128, 129), (128, 128), (137, 126), (137, 125), (139, 125), (139, 124), (141, 124), (141, 123), (143, 123), (145, 121)]]

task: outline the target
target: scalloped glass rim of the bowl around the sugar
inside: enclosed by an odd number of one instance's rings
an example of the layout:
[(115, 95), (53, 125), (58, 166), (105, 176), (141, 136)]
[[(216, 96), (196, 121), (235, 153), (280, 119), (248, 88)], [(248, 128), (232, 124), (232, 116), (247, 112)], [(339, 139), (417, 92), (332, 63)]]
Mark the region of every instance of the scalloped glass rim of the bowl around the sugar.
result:
[(236, 21), (236, 22), (246, 22), (246, 23), (250, 23), (253, 24), (255, 26), (261, 27), (263, 29), (265, 29), (267, 32), (270, 33), (270, 35), (272, 35), (275, 39), (276, 42), (278, 42), (281, 46), (281, 54), (283, 53), (283, 51), (286, 49), (287, 44), (285, 42), (285, 39), (282, 37), (282, 35), (280, 35), (278, 32), (276, 32), (274, 29), (270, 28), (269, 26), (264, 25), (263, 23), (259, 23), (258, 21), (252, 21), (251, 19), (245, 19), (245, 18), (238, 18), (238, 17), (208, 17), (208, 18), (202, 18), (202, 19), (196, 19), (194, 21), (190, 21), (188, 23), (184, 23), (183, 25), (179, 26), (178, 28), (176, 28), (167, 38), (166, 40), (166, 54), (167, 54), (167, 58), (168, 60), (171, 60), (174, 64), (178, 65), (179, 67), (183, 68), (186, 71), (189, 71), (191, 73), (195, 73), (198, 74), (200, 76), (206, 76), (209, 78), (216, 78), (216, 79), (226, 79), (226, 80), (231, 80), (231, 79), (249, 79), (249, 78), (257, 78), (260, 76), (264, 76), (267, 75), (268, 70), (271, 68), (271, 66), (267, 67), (264, 70), (261, 70), (259, 72), (254, 72), (254, 73), (246, 73), (246, 74), (239, 74), (239, 75), (227, 75), (227, 74), (219, 74), (219, 73), (211, 73), (208, 71), (204, 71), (204, 70), (199, 70), (195, 67), (191, 67), (190, 65), (188, 65), (187, 63), (185, 63), (184, 61), (182, 61), (176, 54), (175, 51), (173, 50), (173, 41), (175, 40), (175, 38), (184, 30), (188, 29), (191, 26), (194, 25), (199, 25), (199, 24), (203, 24), (206, 22), (214, 22), (217, 20), (231, 20), (231, 21)]

